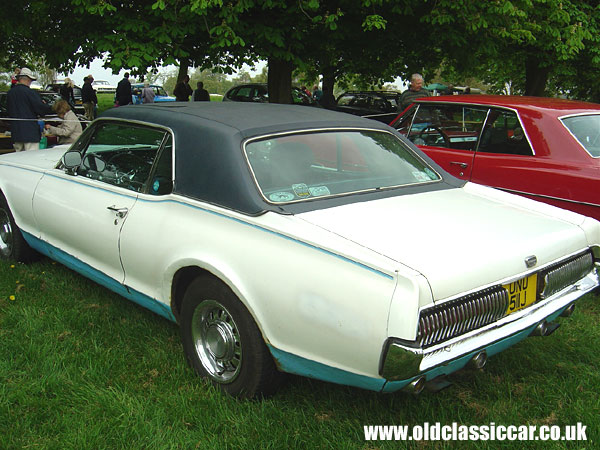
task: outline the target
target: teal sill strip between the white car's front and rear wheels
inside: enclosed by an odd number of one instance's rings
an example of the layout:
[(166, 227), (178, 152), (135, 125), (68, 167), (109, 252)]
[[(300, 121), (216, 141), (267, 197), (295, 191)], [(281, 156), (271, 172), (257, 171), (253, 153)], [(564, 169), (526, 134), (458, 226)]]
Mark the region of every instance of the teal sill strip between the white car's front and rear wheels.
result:
[(48, 256), (49, 258), (61, 264), (64, 264), (68, 268), (73, 269), (75, 272), (80, 273), (84, 277), (89, 278), (90, 280), (110, 289), (111, 291), (125, 297), (126, 299), (131, 300), (132, 302), (135, 302), (138, 305), (143, 306), (144, 308), (149, 309), (150, 311), (160, 316), (163, 316), (173, 322), (176, 321), (175, 316), (171, 311), (171, 308), (169, 308), (164, 303), (161, 303), (158, 300), (153, 299), (152, 297), (148, 297), (147, 295), (142, 294), (141, 292), (138, 292), (134, 289), (125, 286), (122, 283), (119, 283), (114, 278), (111, 278), (108, 275), (100, 272), (99, 270), (94, 269), (89, 264), (80, 261), (74, 256), (69, 255), (61, 249), (42, 241), (41, 239), (33, 236), (30, 233), (27, 233), (23, 230), (21, 230), (21, 233), (23, 234), (23, 238), (29, 244), (29, 246), (37, 250), (38, 252)]

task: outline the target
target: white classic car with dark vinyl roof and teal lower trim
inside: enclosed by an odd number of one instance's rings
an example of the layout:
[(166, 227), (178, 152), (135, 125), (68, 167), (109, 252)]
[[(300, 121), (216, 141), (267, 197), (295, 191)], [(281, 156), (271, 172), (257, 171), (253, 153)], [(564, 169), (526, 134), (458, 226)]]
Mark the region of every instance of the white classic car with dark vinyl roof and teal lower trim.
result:
[(598, 286), (600, 223), (445, 173), (315, 108), (114, 108), (67, 153), (0, 157), (0, 254), (41, 252), (181, 328), (241, 397), (280, 372), (418, 391)]

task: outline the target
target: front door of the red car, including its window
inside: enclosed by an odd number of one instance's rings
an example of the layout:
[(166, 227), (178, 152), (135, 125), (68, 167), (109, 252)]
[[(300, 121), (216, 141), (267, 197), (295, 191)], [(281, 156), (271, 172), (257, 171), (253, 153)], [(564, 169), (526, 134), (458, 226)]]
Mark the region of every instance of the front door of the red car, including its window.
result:
[(448, 173), (469, 180), (486, 115), (487, 108), (428, 102), (394, 126)]

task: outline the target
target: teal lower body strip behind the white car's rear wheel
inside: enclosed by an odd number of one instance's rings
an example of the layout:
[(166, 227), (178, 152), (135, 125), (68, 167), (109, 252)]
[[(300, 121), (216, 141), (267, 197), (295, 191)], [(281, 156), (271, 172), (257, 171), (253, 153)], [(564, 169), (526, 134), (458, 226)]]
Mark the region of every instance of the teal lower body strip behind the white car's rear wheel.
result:
[(371, 391), (381, 391), (385, 384), (383, 378), (371, 378), (365, 375), (347, 372), (279, 350), (270, 344), (267, 345), (273, 358), (275, 358), (277, 366), (285, 372), (295, 373), (296, 375), (315, 378), (317, 380), (329, 381), (330, 383), (356, 386)]

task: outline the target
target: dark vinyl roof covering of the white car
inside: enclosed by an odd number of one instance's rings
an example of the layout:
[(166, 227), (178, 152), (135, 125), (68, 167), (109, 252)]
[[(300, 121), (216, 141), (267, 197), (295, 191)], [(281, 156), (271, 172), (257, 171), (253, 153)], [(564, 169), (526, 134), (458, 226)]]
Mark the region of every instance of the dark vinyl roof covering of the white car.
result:
[[(168, 127), (175, 148), (174, 192), (245, 214), (268, 210), (299, 212), (332, 206), (276, 206), (260, 195), (243, 154), (248, 138), (299, 130), (362, 128), (393, 132), (391, 127), (350, 114), (300, 105), (239, 102), (165, 102), (128, 105), (105, 111), (102, 118)], [(414, 148), (414, 147), (413, 147)], [(419, 152), (420, 153), (420, 152)], [(424, 157), (433, 166), (435, 163)], [(441, 170), (441, 169), (439, 169)], [(356, 200), (355, 200), (356, 201)], [(288, 211), (289, 209), (289, 211)]]

